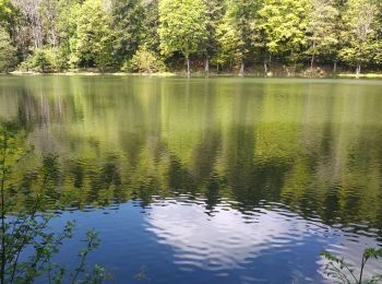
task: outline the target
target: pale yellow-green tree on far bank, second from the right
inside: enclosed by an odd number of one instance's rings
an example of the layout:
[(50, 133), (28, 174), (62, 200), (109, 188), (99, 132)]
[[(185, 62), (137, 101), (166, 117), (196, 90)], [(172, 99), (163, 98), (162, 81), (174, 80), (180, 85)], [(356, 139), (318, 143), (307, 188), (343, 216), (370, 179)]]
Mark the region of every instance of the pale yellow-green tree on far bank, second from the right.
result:
[(336, 19), (338, 10), (333, 0), (310, 0), (308, 17), (308, 55), (311, 56), (310, 68), (313, 69), (315, 56), (329, 56), (338, 43)]

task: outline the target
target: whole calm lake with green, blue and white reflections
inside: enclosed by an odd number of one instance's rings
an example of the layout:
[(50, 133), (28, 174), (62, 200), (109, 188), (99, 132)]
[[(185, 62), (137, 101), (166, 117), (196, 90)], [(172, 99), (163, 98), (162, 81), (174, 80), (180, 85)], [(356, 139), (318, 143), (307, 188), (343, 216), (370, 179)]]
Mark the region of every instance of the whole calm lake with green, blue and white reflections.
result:
[(325, 283), (382, 245), (382, 81), (2, 75), (0, 121), (20, 176), (58, 156), (58, 261), (95, 228), (110, 283)]

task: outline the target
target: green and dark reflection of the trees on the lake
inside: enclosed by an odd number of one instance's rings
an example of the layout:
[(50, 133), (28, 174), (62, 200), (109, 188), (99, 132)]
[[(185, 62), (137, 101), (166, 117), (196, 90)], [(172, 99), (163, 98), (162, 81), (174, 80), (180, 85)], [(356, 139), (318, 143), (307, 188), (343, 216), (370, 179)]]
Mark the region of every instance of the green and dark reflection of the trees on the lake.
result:
[[(238, 228), (246, 212), (280, 204), (306, 222), (381, 240), (378, 81), (44, 76), (0, 84), (0, 118), (20, 125), (37, 153), (58, 154), (50, 199), (63, 208), (131, 200), (150, 208), (186, 194), (198, 200), (188, 214), (206, 212), (201, 220), (218, 222), (226, 213), (214, 213), (229, 204)], [(20, 206), (34, 191), (31, 175), (21, 168), (11, 177), (24, 182), (13, 190)], [(177, 215), (178, 205), (168, 209), (170, 216), (155, 210), (162, 222)], [(264, 232), (283, 220), (263, 218)], [(164, 242), (178, 239), (170, 224), (155, 227)]]

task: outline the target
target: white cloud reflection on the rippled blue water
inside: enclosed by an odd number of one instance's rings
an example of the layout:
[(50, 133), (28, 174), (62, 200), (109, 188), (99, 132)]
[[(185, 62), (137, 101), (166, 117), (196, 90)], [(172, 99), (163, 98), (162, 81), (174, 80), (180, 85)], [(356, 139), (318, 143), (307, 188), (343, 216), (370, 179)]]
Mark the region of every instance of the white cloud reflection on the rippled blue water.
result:
[(285, 210), (259, 209), (243, 214), (220, 204), (212, 214), (202, 204), (155, 203), (147, 230), (176, 250), (179, 265), (206, 270), (237, 269), (266, 250), (287, 250), (309, 233), (305, 220)]

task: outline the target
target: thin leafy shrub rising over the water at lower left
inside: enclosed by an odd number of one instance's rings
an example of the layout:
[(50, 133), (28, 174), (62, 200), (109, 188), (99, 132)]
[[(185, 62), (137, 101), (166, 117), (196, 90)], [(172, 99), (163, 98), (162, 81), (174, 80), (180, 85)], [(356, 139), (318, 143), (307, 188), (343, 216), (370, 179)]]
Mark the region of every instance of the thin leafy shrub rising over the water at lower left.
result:
[[(88, 253), (99, 246), (99, 237), (93, 230), (86, 233), (86, 246), (79, 252), (79, 264), (73, 272), (52, 261), (75, 229), (73, 222), (68, 222), (61, 232), (49, 227), (55, 214), (45, 210), (47, 199), (55, 191), (55, 156), (44, 157), (43, 164), (34, 169), (37, 190), (27, 197), (28, 204), (16, 211), (16, 200), (10, 194), (14, 185), (8, 179), (33, 150), (25, 149), (24, 140), (25, 135), (15, 126), (0, 125), (0, 283), (33, 283), (36, 279), (47, 283), (100, 283), (104, 269), (96, 265), (89, 270), (86, 262)], [(29, 251), (27, 259), (23, 257), (25, 251)]]

